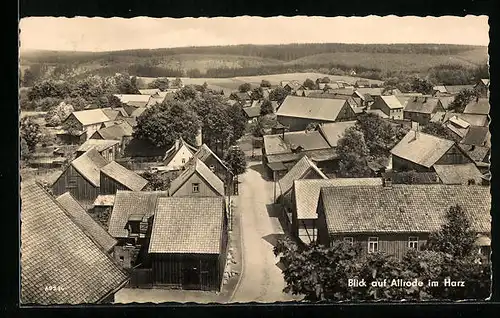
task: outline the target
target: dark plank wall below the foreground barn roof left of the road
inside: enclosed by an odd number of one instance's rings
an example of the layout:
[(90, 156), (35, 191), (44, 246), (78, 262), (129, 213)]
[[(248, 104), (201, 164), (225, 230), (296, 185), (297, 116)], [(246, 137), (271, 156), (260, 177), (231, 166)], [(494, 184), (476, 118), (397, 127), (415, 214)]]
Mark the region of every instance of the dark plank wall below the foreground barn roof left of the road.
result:
[[(153, 284), (180, 289), (219, 291), (221, 278), (218, 254), (151, 254)], [(199, 284), (188, 285), (184, 271), (196, 267)]]

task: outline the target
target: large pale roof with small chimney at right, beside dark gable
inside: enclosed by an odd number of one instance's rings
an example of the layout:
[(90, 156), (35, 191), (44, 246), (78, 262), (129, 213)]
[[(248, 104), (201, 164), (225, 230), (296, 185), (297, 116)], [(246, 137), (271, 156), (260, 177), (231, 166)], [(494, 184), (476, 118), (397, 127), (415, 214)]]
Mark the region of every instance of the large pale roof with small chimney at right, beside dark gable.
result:
[(451, 140), (435, 137), (410, 130), (391, 150), (393, 155), (430, 168), (455, 143)]

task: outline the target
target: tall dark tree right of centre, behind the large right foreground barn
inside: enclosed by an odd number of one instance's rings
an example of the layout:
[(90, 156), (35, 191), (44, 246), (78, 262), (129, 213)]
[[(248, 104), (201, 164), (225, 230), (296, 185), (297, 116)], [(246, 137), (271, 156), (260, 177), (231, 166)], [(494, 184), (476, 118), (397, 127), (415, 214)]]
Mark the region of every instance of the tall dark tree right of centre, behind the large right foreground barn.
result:
[(363, 133), (354, 127), (348, 128), (337, 143), (339, 157), (338, 174), (341, 177), (368, 177), (371, 170), (368, 167), (368, 155)]

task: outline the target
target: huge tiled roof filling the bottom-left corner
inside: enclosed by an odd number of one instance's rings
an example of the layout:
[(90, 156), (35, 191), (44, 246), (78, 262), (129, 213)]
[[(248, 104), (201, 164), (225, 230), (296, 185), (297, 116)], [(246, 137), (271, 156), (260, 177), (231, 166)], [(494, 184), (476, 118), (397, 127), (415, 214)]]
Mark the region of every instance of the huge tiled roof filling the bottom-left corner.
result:
[(123, 286), (127, 275), (40, 185), (21, 184), (21, 199), (22, 304), (96, 303)]

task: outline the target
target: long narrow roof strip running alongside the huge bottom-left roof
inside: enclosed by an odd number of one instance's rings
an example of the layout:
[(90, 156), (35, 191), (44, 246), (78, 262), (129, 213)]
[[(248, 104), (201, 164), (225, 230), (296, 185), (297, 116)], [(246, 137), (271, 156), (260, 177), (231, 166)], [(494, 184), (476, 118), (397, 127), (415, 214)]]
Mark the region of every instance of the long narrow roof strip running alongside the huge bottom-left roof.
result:
[(84, 210), (78, 201), (66, 192), (57, 197), (57, 202), (66, 210), (73, 222), (79, 225), (90, 238), (99, 245), (103, 251), (109, 252), (116, 245), (116, 240), (112, 238), (106, 230), (99, 225)]

